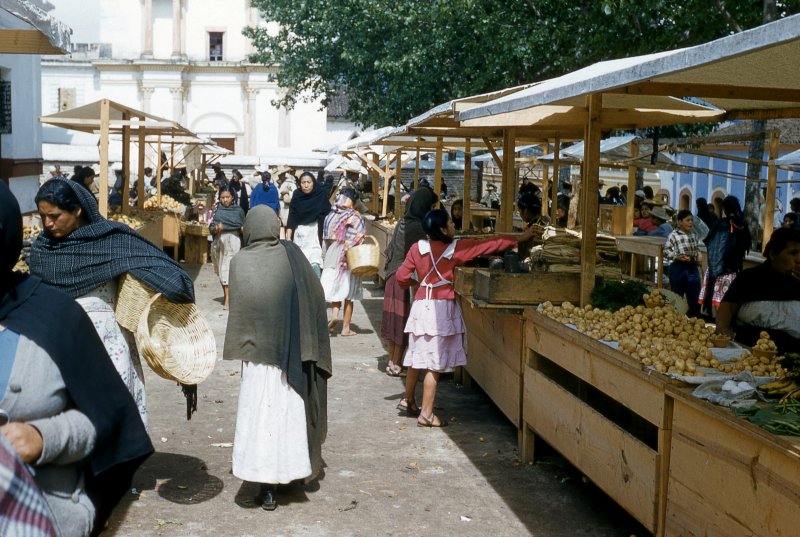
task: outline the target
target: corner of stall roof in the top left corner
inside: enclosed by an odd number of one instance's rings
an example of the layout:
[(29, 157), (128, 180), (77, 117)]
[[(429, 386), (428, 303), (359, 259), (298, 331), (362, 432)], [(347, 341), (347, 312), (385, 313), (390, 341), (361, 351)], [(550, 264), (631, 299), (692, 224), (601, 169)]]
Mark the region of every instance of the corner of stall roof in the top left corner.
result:
[(72, 30), (38, 5), (27, 0), (0, 0), (0, 10), (18, 21), (0, 28), (0, 54), (70, 52)]

